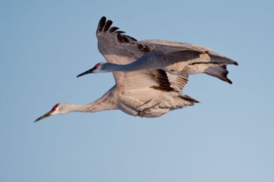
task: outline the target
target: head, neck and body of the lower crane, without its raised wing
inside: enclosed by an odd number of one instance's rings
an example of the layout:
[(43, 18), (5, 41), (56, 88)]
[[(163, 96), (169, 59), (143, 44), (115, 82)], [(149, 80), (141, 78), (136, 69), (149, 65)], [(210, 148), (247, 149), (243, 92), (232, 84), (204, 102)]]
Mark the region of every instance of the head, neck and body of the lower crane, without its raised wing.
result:
[(129, 90), (116, 85), (90, 104), (56, 104), (36, 121), (50, 115), (62, 115), (69, 112), (99, 112), (102, 110), (121, 110), (135, 117), (160, 117), (171, 110), (193, 106), (195, 103), (198, 101), (175, 89), (161, 91), (151, 87)]

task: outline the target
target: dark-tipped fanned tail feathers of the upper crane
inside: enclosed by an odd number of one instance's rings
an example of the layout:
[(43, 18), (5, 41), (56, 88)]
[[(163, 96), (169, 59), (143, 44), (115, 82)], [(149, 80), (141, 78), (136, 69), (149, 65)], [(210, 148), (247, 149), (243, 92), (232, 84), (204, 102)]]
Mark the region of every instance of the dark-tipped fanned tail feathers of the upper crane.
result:
[(232, 84), (232, 80), (227, 78), (227, 66), (226, 65), (214, 65), (208, 68), (204, 73), (219, 78), (225, 82)]

